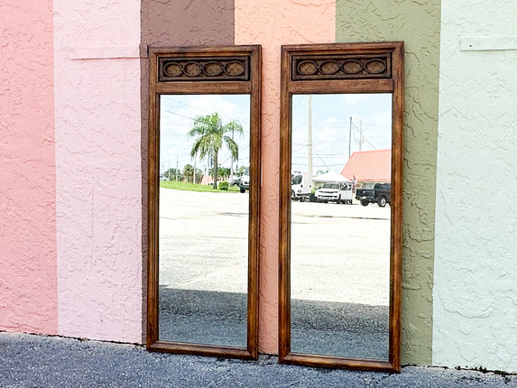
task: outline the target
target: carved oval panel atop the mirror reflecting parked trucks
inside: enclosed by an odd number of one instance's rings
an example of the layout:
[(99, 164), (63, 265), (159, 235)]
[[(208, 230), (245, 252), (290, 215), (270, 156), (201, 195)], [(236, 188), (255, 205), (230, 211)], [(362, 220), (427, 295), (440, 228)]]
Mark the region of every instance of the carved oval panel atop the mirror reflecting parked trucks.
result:
[(292, 80), (391, 79), (392, 54), (293, 55)]

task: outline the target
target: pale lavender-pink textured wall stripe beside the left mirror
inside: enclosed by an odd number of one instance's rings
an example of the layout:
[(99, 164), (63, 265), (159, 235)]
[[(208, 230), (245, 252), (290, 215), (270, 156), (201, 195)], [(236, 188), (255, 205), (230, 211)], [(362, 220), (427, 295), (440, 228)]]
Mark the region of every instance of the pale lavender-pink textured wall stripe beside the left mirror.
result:
[(54, 27), (59, 333), (141, 342), (140, 1), (55, 0)]

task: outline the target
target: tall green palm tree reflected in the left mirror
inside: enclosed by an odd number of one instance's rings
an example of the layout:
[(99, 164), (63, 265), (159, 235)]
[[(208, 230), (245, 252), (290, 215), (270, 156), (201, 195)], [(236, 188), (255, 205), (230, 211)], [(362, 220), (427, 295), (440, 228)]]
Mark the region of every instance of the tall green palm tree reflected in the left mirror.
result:
[(212, 157), (214, 166), (214, 189), (217, 189), (217, 154), (223, 144), (226, 144), (232, 158), (238, 159), (239, 149), (237, 143), (228, 134), (244, 134), (243, 126), (236, 120), (223, 125), (219, 115), (200, 115), (196, 117), (189, 137), (196, 137), (190, 155), (199, 154), (201, 159)]

